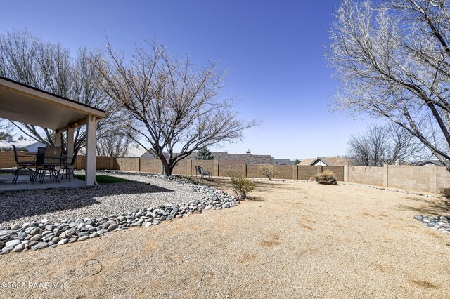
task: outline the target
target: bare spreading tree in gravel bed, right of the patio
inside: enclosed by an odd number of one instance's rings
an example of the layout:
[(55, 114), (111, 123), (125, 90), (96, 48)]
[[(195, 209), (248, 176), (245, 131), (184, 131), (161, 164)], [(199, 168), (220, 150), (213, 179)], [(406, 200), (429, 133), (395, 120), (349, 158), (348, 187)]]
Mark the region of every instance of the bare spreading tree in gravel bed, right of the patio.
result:
[(238, 119), (229, 100), (219, 99), (225, 76), (214, 63), (195, 69), (188, 58), (172, 58), (163, 46), (146, 46), (148, 51), (136, 48), (125, 62), (108, 45), (111, 63), (101, 69), (102, 85), (127, 109), (136, 133), (131, 138), (161, 160), (165, 175), (193, 151), (239, 140), (255, 126), (255, 121)]

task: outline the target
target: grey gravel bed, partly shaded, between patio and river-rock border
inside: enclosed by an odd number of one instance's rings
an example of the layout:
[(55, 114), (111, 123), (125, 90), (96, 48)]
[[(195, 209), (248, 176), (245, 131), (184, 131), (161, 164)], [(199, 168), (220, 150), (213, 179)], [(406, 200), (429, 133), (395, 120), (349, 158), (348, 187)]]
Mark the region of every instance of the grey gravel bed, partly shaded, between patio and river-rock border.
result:
[[(47, 218), (57, 222), (68, 218), (99, 218), (127, 213), (136, 208), (180, 204), (201, 198), (188, 185), (140, 175), (105, 173), (134, 180), (98, 187), (32, 190), (1, 193), (0, 227)], [(147, 185), (150, 183), (150, 185)]]

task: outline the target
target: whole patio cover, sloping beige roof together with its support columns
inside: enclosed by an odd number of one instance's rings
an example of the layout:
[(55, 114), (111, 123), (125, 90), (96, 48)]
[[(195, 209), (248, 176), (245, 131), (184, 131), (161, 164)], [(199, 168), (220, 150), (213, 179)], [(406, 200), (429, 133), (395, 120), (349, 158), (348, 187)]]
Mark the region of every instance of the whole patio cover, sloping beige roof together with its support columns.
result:
[(88, 186), (95, 184), (96, 123), (105, 117), (103, 110), (0, 77), (0, 117), (57, 134), (68, 131), (68, 156), (73, 153), (74, 128), (86, 124), (85, 180)]

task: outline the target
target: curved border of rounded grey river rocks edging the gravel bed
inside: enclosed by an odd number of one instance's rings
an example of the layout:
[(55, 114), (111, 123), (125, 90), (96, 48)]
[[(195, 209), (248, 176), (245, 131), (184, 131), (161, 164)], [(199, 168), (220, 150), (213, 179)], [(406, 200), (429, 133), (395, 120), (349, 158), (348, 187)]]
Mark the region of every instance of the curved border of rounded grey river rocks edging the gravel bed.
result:
[(239, 204), (236, 197), (224, 191), (209, 186), (193, 185), (187, 180), (173, 176), (124, 171), (101, 171), (99, 173), (134, 174), (191, 185), (193, 190), (201, 194), (202, 199), (182, 204), (136, 208), (128, 213), (117, 213), (103, 218), (71, 218), (54, 223), (44, 218), (41, 222), (25, 222), (22, 225), (13, 224), (0, 227), (0, 255), (10, 252), (34, 251), (46, 247), (55, 248), (63, 244), (101, 237), (110, 232), (127, 230), (129, 227), (150, 227), (158, 225), (162, 221), (188, 217), (193, 213), (200, 214), (204, 210), (220, 210)]

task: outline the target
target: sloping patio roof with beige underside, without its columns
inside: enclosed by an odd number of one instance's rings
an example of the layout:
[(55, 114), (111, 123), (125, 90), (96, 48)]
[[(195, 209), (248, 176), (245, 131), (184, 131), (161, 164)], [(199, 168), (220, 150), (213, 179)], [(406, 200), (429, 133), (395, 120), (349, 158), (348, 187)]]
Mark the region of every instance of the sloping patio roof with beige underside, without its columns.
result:
[(102, 119), (101, 109), (0, 77), (0, 117), (56, 131), (85, 124), (89, 116)]

